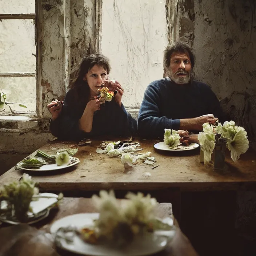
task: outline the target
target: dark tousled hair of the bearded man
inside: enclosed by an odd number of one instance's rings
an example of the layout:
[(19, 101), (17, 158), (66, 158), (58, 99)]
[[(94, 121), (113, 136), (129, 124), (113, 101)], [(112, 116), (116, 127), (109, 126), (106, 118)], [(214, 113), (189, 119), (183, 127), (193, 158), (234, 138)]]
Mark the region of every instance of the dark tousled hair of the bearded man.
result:
[(188, 53), (190, 61), (191, 61), (191, 72), (193, 73), (193, 68), (195, 66), (195, 55), (193, 53), (192, 47), (190, 47), (185, 42), (173, 42), (167, 45), (164, 50), (164, 73), (170, 68), (171, 55), (174, 52), (179, 53)]

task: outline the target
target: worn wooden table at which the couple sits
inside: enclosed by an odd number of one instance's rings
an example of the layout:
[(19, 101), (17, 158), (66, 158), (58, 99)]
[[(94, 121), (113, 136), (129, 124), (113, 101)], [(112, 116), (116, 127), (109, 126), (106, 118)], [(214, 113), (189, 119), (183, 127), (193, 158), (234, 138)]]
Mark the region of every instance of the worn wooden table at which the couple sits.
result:
[[(117, 140), (117, 139), (116, 139)], [(109, 158), (96, 153), (102, 141), (92, 141), (90, 145), (79, 147), (76, 157), (80, 163), (76, 167), (56, 172), (30, 172), (43, 191), (99, 191), (115, 190), (154, 190), (178, 188), (181, 191), (255, 189), (256, 152), (249, 150), (240, 159), (233, 162), (227, 151), (228, 171), (215, 172), (199, 163), (199, 148), (187, 152), (157, 151), (153, 144), (157, 141), (142, 140), (141, 152), (152, 152), (159, 167), (142, 162), (131, 171), (124, 173), (119, 157)], [(44, 145), (42, 151), (53, 154), (52, 149), (71, 147), (72, 143), (52, 142)], [(148, 173), (151, 176), (148, 176)], [(21, 177), (21, 171), (10, 169), (0, 177), (0, 184), (9, 183)]]

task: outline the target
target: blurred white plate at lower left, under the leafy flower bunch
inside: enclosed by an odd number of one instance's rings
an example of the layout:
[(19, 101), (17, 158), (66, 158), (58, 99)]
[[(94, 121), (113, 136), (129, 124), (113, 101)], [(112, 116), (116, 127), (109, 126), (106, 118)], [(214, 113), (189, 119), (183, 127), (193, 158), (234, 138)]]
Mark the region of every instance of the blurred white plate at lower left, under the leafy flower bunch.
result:
[[(50, 208), (52, 207), (52, 205), (57, 203), (57, 197), (58, 195), (53, 194), (53, 193), (41, 193), (41, 196), (48, 196), (51, 198), (39, 198), (37, 201), (32, 201), (30, 203), (30, 207), (32, 208), (32, 211), (35, 215), (31, 215), (28, 218), (28, 222), (26, 222), (26, 224), (33, 224), (36, 223), (40, 220), (45, 219), (48, 215), (49, 215), (49, 211)], [(6, 204), (6, 203), (5, 203)], [(4, 202), (1, 204), (4, 205)], [(20, 224), (21, 222), (7, 217), (7, 216), (0, 216), (0, 221), (1, 222), (5, 222), (8, 224), (12, 224), (12, 225), (17, 225)]]

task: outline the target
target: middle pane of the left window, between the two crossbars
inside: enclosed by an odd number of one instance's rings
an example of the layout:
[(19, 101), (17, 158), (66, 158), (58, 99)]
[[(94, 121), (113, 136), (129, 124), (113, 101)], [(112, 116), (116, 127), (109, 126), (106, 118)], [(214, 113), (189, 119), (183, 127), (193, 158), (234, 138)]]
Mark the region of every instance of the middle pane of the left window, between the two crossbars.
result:
[(2, 20), (0, 31), (0, 72), (35, 73), (34, 21)]

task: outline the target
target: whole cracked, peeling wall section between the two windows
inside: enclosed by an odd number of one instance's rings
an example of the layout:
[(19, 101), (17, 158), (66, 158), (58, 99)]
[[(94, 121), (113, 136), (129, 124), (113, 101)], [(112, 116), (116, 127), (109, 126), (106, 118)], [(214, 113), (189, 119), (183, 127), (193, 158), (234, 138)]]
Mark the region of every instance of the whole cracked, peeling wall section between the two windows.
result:
[(64, 99), (81, 59), (95, 51), (94, 1), (44, 0), (39, 1), (39, 9), (38, 80), (42, 103), (38, 108), (41, 117), (49, 118), (47, 104)]

